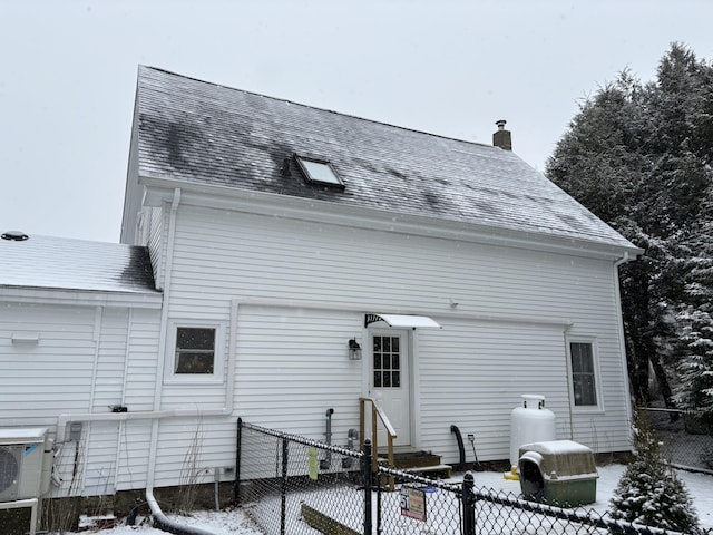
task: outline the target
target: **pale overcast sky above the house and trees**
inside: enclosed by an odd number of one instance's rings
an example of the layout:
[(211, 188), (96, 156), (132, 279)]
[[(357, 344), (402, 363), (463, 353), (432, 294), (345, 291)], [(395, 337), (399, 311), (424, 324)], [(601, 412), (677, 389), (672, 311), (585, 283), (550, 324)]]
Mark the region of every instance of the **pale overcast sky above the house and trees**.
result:
[(119, 237), (139, 64), (545, 162), (597, 87), (713, 59), (711, 0), (0, 0), (0, 232)]

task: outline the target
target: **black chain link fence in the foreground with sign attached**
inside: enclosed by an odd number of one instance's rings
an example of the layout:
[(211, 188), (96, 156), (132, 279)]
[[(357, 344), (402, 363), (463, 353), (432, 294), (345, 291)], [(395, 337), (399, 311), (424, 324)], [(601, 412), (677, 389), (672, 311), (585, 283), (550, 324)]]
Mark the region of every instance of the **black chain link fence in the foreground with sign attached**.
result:
[(238, 420), (235, 502), (266, 535), (674, 535), (584, 507), (438, 481), (355, 451)]

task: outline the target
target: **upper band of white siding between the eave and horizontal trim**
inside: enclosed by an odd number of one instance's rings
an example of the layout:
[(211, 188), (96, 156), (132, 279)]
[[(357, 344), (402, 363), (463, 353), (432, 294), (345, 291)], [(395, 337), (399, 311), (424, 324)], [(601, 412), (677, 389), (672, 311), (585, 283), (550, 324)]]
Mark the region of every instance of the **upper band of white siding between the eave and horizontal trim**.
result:
[[(453, 299), (458, 310), (557, 318), (582, 317), (572, 298), (586, 295), (595, 320), (612, 304), (608, 262), (223, 211), (179, 213), (172, 313), (209, 317), (226, 295), (385, 310), (449, 310)], [(602, 319), (613, 321), (611, 313)]]

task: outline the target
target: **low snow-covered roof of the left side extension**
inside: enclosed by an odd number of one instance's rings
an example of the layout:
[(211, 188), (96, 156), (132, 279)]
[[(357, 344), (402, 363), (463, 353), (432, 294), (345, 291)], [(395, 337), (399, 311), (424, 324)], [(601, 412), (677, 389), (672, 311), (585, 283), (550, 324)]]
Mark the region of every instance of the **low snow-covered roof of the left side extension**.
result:
[(156, 293), (146, 247), (31, 235), (0, 240), (0, 288)]

